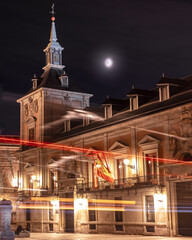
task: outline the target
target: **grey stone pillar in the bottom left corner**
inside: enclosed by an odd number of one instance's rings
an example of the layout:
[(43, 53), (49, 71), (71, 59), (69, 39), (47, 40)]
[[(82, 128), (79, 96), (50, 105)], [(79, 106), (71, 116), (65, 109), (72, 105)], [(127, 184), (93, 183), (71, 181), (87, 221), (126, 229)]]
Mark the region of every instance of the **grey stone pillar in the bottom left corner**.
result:
[(11, 201), (0, 201), (0, 240), (14, 240), (15, 233), (11, 231)]

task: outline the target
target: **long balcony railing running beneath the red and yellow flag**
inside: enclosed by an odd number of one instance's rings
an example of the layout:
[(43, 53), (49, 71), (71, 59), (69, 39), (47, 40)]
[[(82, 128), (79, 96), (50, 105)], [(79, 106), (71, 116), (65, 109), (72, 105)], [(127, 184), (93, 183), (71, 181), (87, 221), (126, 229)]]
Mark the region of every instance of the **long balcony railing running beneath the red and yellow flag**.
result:
[(77, 192), (88, 192), (98, 190), (113, 190), (113, 189), (124, 189), (124, 188), (141, 188), (149, 187), (154, 185), (164, 185), (164, 176), (160, 175), (147, 175), (137, 176), (131, 178), (116, 179), (114, 183), (107, 181), (98, 181), (98, 186), (95, 188), (93, 182), (82, 182), (76, 185)]

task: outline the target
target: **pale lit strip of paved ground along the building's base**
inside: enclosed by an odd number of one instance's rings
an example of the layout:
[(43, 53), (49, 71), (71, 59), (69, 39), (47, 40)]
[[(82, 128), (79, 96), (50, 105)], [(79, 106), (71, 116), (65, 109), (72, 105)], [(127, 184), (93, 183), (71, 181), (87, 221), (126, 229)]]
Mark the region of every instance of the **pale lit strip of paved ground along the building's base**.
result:
[[(16, 238), (19, 240), (19, 238)], [(22, 240), (191, 240), (192, 237), (149, 237), (117, 234), (72, 234), (72, 233), (31, 233), (30, 238)]]

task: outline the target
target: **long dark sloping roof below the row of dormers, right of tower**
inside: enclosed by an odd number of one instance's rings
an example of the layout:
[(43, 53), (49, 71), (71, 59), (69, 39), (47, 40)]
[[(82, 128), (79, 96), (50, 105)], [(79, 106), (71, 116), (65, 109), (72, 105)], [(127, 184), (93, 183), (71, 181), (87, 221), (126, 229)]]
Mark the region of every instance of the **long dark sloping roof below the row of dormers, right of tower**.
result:
[(118, 114), (107, 120), (93, 122), (87, 126), (81, 126), (76, 129), (71, 129), (71, 131), (69, 132), (61, 133), (59, 136), (57, 136), (57, 138), (53, 139), (53, 141), (67, 139), (68, 137), (95, 131), (97, 129), (102, 129), (104, 127), (112, 126), (117, 123), (132, 121), (133, 119), (139, 119), (143, 116), (148, 116), (150, 114), (166, 111), (168, 109), (190, 103), (192, 102), (192, 91), (190, 91), (192, 90), (192, 77), (181, 79), (181, 81), (182, 80), (185, 81), (185, 87), (183, 89), (180, 89), (181, 94), (175, 94), (171, 96), (168, 100), (162, 102), (154, 98), (154, 101), (151, 100), (149, 104), (145, 104), (139, 107), (137, 110), (122, 110)]

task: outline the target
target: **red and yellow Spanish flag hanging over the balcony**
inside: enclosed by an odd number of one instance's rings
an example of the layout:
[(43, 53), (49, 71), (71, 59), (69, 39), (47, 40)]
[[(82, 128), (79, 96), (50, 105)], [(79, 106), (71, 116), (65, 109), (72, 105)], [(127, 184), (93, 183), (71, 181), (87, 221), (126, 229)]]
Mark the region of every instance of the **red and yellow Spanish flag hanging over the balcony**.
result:
[(97, 160), (96, 160), (97, 176), (103, 178), (104, 180), (106, 180), (110, 183), (113, 183), (114, 176), (109, 169), (109, 166), (107, 164), (107, 160), (105, 159), (105, 156), (103, 156), (103, 157), (104, 157), (106, 164), (103, 163), (103, 161), (101, 160), (101, 157), (99, 156), (99, 154), (97, 154)]

